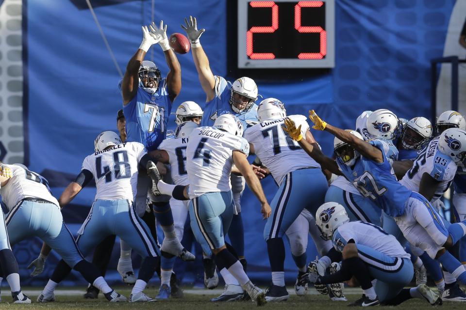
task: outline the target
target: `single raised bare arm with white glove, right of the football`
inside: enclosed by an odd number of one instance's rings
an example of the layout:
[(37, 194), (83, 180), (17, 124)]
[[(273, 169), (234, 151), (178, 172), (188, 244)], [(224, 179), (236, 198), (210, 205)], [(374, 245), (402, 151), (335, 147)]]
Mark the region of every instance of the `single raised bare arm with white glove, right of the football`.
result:
[(189, 21), (184, 18), (184, 22), (185, 25), (181, 25), (181, 28), (186, 31), (188, 39), (191, 41), (191, 52), (193, 54), (194, 65), (198, 71), (200, 85), (207, 96), (206, 101), (211, 101), (215, 97), (215, 77), (210, 69), (209, 59), (199, 40), (205, 29), (198, 30), (196, 17), (189, 16)]

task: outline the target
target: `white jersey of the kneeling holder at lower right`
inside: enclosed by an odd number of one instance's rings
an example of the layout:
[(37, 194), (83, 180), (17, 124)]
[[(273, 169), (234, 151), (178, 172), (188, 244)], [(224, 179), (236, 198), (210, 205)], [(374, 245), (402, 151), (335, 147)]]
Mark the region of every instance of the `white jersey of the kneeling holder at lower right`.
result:
[(354, 221), (341, 225), (333, 233), (333, 247), (342, 252), (351, 239), (356, 244), (372, 248), (387, 256), (407, 259), (411, 257), (393, 235), (374, 224)]

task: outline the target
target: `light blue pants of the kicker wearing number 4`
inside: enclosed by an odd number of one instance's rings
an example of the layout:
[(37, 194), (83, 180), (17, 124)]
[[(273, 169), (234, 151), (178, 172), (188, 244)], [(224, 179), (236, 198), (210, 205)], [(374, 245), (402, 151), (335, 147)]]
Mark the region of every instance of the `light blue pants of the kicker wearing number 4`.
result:
[(232, 191), (205, 193), (189, 202), (191, 229), (205, 254), (225, 245), (233, 208)]

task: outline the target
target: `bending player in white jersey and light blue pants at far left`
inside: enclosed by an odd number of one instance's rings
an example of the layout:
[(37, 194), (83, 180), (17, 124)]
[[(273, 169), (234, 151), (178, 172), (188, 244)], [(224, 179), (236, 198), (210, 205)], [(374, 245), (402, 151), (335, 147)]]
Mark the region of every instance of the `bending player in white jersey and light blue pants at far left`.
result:
[[(69, 232), (58, 201), (50, 193), (49, 183), (41, 175), (17, 165), (7, 165), (13, 176), (2, 182), (1, 197), (10, 210), (6, 218), (6, 227), (10, 244), (30, 238), (39, 237), (62, 257), (63, 264), (83, 275), (105, 295), (108, 301), (126, 301), (126, 298), (112, 290), (100, 276), (95, 265), (84, 260), (73, 236)], [(38, 302), (54, 301), (53, 289), (58, 282), (54, 275), (46, 288), (37, 297)]]

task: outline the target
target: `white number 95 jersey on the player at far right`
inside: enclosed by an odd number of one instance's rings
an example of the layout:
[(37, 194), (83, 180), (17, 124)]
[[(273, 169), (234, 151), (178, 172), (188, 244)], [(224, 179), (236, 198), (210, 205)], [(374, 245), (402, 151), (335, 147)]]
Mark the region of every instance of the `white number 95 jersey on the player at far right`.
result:
[(418, 192), (422, 175), (428, 173), (440, 182), (432, 197), (432, 202), (439, 199), (449, 188), (457, 169), (456, 163), (451, 160), (450, 156), (438, 150), (438, 139), (439, 137), (436, 137), (429, 142), (417, 156), (413, 167), (399, 181), (408, 189)]

